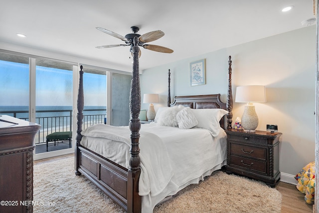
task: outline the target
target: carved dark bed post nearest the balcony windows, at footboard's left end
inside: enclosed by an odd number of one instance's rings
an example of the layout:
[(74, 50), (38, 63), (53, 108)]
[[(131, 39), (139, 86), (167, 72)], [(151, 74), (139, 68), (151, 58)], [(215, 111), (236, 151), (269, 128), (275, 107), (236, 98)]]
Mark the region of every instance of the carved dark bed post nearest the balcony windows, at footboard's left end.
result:
[(80, 79), (79, 79), (79, 91), (78, 91), (78, 100), (77, 100), (77, 109), (78, 113), (76, 115), (77, 118), (77, 130), (76, 130), (76, 146), (75, 146), (75, 175), (81, 175), (78, 171), (80, 166), (80, 150), (78, 146), (80, 146), (80, 142), (82, 139), (82, 124), (83, 124), (83, 108), (84, 108), (84, 93), (83, 93), (83, 66), (80, 66)]

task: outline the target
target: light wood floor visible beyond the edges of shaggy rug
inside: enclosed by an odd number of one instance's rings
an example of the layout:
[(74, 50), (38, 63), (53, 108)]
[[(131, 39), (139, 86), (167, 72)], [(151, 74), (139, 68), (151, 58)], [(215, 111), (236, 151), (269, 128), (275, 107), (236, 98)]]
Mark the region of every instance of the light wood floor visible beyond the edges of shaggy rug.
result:
[[(34, 161), (34, 165), (69, 158), (74, 154)], [(299, 192), (295, 185), (279, 182), (276, 189), (282, 194), (282, 213), (313, 213), (313, 205), (305, 201), (305, 195)]]

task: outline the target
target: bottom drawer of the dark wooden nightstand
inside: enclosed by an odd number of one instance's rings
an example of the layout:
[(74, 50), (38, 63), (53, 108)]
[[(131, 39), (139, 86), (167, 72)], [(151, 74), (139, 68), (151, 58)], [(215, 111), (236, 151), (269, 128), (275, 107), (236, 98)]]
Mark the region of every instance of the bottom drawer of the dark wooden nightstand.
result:
[(236, 165), (249, 170), (254, 170), (257, 172), (267, 173), (267, 163), (262, 161), (257, 161), (249, 158), (243, 158), (235, 155), (230, 156), (230, 165)]

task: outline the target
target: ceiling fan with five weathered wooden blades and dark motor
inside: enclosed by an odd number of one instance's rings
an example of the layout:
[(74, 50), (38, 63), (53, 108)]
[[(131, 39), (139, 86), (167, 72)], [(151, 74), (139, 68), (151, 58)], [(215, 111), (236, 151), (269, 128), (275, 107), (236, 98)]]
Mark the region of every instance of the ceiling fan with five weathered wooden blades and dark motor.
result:
[[(112, 35), (116, 38), (119, 38), (125, 42), (125, 44), (111, 44), (111, 45), (104, 45), (104, 46), (97, 46), (96, 48), (110, 48), (110, 47), (117, 47), (117, 46), (131, 46), (130, 51), (132, 53), (132, 46), (134, 45), (134, 38), (138, 37), (138, 45), (144, 47), (145, 49), (157, 51), (157, 52), (163, 52), (163, 53), (172, 53), (173, 50), (169, 49), (167, 47), (154, 45), (154, 44), (146, 44), (147, 42), (155, 41), (159, 38), (161, 38), (164, 35), (164, 32), (160, 30), (155, 30), (151, 32), (147, 32), (143, 35), (137, 34), (137, 32), (140, 30), (137, 26), (132, 26), (131, 30), (133, 33), (129, 33), (125, 36), (122, 36), (118, 33), (112, 32), (111, 30), (104, 29), (102, 27), (96, 27), (98, 30)], [(139, 57), (141, 57), (141, 50), (139, 51)]]

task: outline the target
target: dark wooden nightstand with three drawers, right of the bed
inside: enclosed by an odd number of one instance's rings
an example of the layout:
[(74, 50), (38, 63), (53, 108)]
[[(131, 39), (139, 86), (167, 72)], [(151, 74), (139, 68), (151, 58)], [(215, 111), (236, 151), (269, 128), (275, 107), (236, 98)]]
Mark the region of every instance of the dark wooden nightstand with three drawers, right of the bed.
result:
[(225, 130), (228, 174), (235, 173), (265, 182), (274, 188), (280, 180), (279, 138), (282, 133)]

